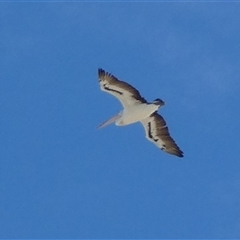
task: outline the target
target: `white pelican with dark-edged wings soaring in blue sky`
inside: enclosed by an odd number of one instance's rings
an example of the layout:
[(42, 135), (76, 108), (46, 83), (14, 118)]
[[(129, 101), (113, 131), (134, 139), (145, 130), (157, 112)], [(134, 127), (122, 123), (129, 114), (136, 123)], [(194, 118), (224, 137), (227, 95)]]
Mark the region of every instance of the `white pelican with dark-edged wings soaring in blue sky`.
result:
[(148, 140), (169, 154), (183, 157), (183, 152), (169, 134), (165, 120), (157, 113), (158, 109), (164, 106), (164, 101), (157, 98), (151, 103), (147, 102), (133, 86), (118, 80), (114, 75), (101, 68), (98, 69), (98, 78), (101, 90), (115, 96), (124, 108), (98, 128), (113, 122), (117, 126), (141, 122)]

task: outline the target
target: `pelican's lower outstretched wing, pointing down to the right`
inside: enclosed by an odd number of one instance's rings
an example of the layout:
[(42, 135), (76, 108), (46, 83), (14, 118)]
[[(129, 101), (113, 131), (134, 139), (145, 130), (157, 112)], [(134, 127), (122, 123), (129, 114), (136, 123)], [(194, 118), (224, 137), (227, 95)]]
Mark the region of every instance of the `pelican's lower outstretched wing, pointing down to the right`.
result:
[(154, 112), (148, 118), (142, 120), (141, 123), (145, 129), (148, 140), (155, 143), (167, 153), (183, 157), (183, 152), (171, 138), (166, 122), (162, 116)]

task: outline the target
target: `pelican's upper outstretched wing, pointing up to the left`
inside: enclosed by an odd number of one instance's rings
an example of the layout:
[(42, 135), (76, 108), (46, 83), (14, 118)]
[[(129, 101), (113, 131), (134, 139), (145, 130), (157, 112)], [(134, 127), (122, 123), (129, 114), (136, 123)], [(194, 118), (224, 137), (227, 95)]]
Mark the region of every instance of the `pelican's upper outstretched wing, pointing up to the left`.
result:
[(98, 69), (98, 78), (101, 89), (118, 98), (124, 108), (136, 103), (147, 102), (133, 86), (118, 80), (111, 73), (105, 72), (101, 68)]

